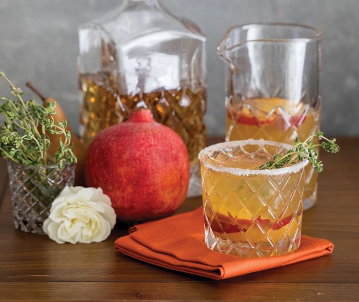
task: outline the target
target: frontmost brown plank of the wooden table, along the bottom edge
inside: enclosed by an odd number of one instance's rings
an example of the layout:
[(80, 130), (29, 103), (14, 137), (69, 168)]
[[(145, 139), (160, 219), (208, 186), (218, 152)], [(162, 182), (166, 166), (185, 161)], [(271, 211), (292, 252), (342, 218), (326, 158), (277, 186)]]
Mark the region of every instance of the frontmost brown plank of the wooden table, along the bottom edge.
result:
[[(358, 285), (351, 284), (293, 284), (293, 283), (213, 283), (201, 282), (51, 282), (18, 283), (3, 286), (3, 295), (13, 299), (51, 301), (355, 301)], [(68, 293), (71, 292), (71, 295)], [(338, 292), (343, 293), (338, 299)], [(65, 294), (64, 294), (65, 293)], [(106, 297), (106, 298), (104, 298)]]

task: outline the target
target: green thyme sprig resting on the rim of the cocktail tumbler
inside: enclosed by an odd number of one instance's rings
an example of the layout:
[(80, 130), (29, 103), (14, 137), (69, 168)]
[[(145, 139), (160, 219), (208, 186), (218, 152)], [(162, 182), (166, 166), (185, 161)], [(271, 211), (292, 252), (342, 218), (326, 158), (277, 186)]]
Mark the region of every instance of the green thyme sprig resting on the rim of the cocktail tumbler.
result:
[[(315, 143), (315, 138), (322, 143)], [(278, 153), (274, 155), (273, 160), (266, 162), (264, 165), (260, 166), (261, 170), (264, 169), (273, 169), (273, 168), (282, 168), (285, 164), (295, 164), (297, 162), (307, 159), (312, 167), (317, 172), (322, 172), (323, 163), (318, 160), (318, 147), (322, 147), (324, 150), (330, 153), (339, 152), (340, 148), (336, 144), (336, 139), (328, 139), (324, 136), (324, 133), (321, 131), (315, 132), (315, 135), (308, 137), (304, 142), (301, 142), (297, 137), (295, 139), (295, 145), (290, 148), (287, 153)]]

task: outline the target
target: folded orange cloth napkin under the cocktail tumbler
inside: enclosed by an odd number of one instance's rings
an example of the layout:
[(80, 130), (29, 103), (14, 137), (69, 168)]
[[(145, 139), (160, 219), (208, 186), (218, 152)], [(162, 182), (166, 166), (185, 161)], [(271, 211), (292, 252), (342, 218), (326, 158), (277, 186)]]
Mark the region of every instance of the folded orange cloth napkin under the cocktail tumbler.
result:
[(240, 258), (212, 251), (204, 243), (203, 207), (163, 220), (136, 225), (115, 248), (138, 260), (168, 269), (224, 279), (330, 254), (334, 245), (303, 236), (296, 251), (283, 256)]

